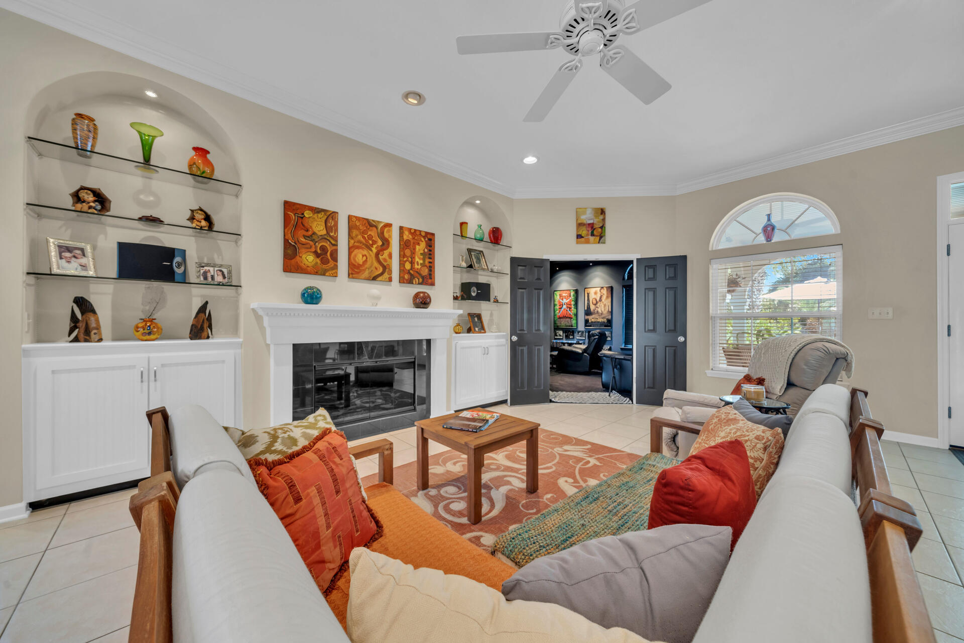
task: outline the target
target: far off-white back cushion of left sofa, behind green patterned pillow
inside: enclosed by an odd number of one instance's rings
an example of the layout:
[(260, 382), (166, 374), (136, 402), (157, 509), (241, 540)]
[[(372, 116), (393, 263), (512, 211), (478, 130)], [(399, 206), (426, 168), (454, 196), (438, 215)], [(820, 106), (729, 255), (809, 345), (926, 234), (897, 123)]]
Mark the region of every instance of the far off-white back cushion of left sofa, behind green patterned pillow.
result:
[[(224, 427), (206, 409), (189, 404), (174, 410), (170, 420), (171, 469), (178, 487), (183, 489), (201, 468), (223, 466), (237, 469), (254, 485), (254, 475), (248, 463), (228, 438)], [(214, 463), (221, 464), (214, 467)]]

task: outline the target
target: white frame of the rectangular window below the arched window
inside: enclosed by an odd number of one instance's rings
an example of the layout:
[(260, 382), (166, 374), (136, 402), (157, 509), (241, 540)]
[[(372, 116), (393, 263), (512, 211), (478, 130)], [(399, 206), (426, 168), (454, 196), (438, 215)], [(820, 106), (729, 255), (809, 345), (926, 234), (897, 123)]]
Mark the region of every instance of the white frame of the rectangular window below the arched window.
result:
[(803, 255), (836, 255), (836, 266), (837, 271), (837, 309), (833, 311), (826, 312), (808, 312), (805, 316), (807, 317), (820, 317), (825, 319), (835, 319), (837, 324), (837, 339), (844, 341), (844, 246), (843, 244), (837, 244), (834, 246), (820, 246), (817, 248), (801, 248), (799, 250), (786, 250), (778, 251), (775, 253), (756, 253), (753, 255), (738, 255), (738, 256), (723, 256), (715, 259), (710, 259), (710, 369), (707, 370), (707, 375), (710, 377), (722, 377), (733, 380), (738, 380), (743, 375), (746, 375), (746, 368), (739, 368), (736, 366), (726, 366), (720, 365), (719, 363), (719, 344), (717, 331), (719, 329), (719, 320), (721, 317), (728, 319), (751, 319), (751, 318), (767, 318), (767, 319), (781, 319), (785, 317), (793, 317), (800, 315), (788, 314), (787, 312), (740, 312), (740, 313), (728, 313), (721, 314), (716, 308), (718, 304), (718, 285), (716, 279), (719, 276), (719, 271), (716, 267), (720, 264), (726, 263), (737, 263), (742, 261), (772, 261), (773, 259), (782, 259), (789, 256), (803, 256)]

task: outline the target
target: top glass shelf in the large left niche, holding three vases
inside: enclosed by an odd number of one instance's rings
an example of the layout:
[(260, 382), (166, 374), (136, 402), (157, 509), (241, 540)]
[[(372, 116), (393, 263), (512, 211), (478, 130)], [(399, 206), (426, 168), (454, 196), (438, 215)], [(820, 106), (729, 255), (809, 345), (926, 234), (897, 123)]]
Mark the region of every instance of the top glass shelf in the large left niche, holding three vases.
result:
[[(34, 148), (38, 156), (45, 158), (55, 158), (60, 161), (67, 161), (68, 163), (77, 163), (78, 165), (86, 165), (101, 170), (120, 172), (120, 174), (131, 174), (133, 176), (140, 176), (141, 178), (152, 178), (154, 180), (164, 181), (165, 183), (174, 183), (175, 185), (217, 192), (228, 195), (229, 197), (237, 197), (241, 194), (240, 184), (225, 181), (220, 178), (195, 176), (182, 170), (174, 170), (160, 165), (143, 163), (134, 159), (105, 154), (99, 151), (89, 152), (63, 143), (44, 141), (33, 136), (27, 137), (27, 144)], [(82, 156), (78, 154), (78, 152), (84, 155)]]

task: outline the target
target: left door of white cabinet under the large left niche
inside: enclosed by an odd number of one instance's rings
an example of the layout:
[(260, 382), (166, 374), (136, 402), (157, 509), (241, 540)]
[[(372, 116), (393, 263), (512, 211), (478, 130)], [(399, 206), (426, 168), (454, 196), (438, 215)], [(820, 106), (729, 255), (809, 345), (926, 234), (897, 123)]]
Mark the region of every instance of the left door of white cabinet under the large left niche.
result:
[(149, 475), (147, 358), (39, 360), (33, 397), (37, 498)]

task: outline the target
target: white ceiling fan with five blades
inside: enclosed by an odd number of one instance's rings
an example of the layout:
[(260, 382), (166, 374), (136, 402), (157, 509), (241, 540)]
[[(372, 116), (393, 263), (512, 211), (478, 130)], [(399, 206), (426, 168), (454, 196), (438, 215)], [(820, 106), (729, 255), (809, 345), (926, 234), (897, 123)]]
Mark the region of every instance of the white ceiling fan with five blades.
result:
[(625, 46), (616, 44), (616, 40), (707, 2), (710, 0), (638, 0), (625, 6), (623, 0), (569, 0), (559, 22), (559, 31), (460, 36), (455, 43), (460, 54), (561, 47), (575, 56), (559, 67), (522, 121), (543, 121), (582, 68), (583, 57), (594, 54), (600, 54), (603, 71), (649, 105), (666, 94), (670, 84)]

